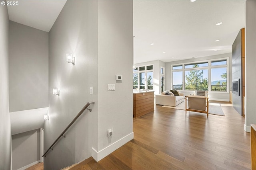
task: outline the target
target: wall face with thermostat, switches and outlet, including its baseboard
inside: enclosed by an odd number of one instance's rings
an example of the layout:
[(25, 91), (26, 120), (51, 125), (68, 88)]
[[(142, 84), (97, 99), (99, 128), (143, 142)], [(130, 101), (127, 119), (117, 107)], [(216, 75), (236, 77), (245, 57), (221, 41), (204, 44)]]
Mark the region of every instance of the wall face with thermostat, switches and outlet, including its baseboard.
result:
[[(97, 161), (133, 139), (132, 3), (98, 1), (98, 146), (92, 149)], [(116, 81), (116, 74), (123, 80)], [(116, 90), (107, 91), (107, 84)]]

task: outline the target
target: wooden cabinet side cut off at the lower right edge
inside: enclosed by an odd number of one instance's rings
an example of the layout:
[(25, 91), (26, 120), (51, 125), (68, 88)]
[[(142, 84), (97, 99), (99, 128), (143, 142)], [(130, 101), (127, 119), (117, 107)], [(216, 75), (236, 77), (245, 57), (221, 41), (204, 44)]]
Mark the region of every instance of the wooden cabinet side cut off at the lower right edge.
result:
[(256, 170), (256, 125), (251, 124), (251, 165)]

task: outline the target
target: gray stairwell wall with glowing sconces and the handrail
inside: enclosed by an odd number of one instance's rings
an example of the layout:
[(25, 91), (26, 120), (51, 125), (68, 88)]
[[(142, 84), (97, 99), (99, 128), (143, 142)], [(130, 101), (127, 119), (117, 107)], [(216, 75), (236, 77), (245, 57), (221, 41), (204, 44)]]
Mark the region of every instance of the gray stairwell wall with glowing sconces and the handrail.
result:
[[(97, 142), (98, 59), (97, 1), (67, 1), (49, 32), (49, 121), (45, 121), (45, 151), (87, 102), (95, 102), (53, 147), (44, 169), (61, 169), (91, 156)], [(76, 55), (76, 64), (66, 62)], [(107, 64), (104, 66), (108, 67)], [(104, 68), (101, 68), (102, 70)], [(90, 95), (93, 87), (93, 95)], [(52, 89), (60, 89), (54, 96)]]

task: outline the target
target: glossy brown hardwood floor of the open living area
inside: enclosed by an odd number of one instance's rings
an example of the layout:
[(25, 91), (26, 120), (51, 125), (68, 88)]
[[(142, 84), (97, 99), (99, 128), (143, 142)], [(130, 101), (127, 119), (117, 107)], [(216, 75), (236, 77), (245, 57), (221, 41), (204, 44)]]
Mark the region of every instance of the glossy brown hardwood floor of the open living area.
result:
[[(218, 102), (219, 103), (219, 102)], [(155, 106), (134, 119), (134, 139), (104, 159), (71, 170), (250, 170), (250, 133), (228, 102), (226, 116)]]

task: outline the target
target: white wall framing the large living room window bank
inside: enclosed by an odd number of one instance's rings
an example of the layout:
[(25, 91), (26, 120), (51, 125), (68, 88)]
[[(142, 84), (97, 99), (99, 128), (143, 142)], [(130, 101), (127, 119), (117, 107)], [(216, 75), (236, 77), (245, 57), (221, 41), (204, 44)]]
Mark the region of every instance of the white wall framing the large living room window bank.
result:
[[(165, 70), (165, 83), (166, 83), (166, 90), (171, 89), (171, 65), (172, 64), (180, 64), (180, 63), (189, 63), (189, 62), (195, 62), (195, 61), (204, 61), (204, 60), (209, 60), (209, 59), (218, 59), (218, 58), (224, 58), (228, 57), (229, 58), (229, 87), (228, 87), (228, 92), (221, 92), (221, 93), (216, 93), (216, 92), (209, 92), (209, 98), (211, 100), (220, 100), (220, 101), (227, 101), (229, 102), (229, 90), (231, 89), (232, 85), (232, 67), (231, 67), (231, 57), (232, 53), (226, 53), (226, 54), (221, 54), (221, 55), (213, 55), (213, 56), (207, 56), (207, 57), (200, 57), (200, 58), (194, 58), (194, 59), (187, 59), (187, 60), (181, 60), (181, 61), (173, 61), (173, 62), (168, 62), (166, 63), (166, 70)], [(182, 91), (185, 92), (185, 95), (189, 95), (192, 92), (188, 91)]]

